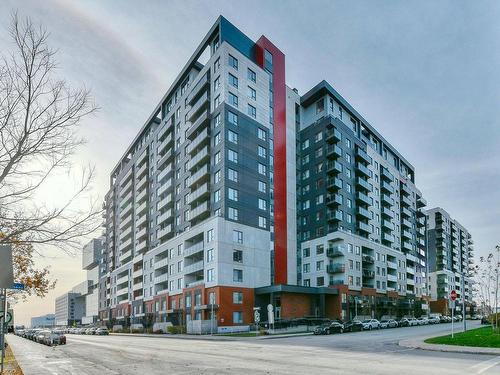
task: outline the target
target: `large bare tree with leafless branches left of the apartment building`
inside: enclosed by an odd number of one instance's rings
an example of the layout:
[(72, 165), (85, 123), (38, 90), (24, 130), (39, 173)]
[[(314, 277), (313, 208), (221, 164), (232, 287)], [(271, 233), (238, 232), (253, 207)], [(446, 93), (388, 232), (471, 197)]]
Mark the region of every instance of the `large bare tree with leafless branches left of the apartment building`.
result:
[(94, 169), (83, 168), (76, 191), (56, 207), (38, 202), (36, 193), (51, 176), (72, 170), (84, 142), (79, 125), (96, 106), (89, 90), (55, 77), (56, 52), (42, 26), (14, 13), (9, 31), (13, 50), (0, 61), (0, 243), (71, 250), (99, 227), (100, 205), (88, 196)]

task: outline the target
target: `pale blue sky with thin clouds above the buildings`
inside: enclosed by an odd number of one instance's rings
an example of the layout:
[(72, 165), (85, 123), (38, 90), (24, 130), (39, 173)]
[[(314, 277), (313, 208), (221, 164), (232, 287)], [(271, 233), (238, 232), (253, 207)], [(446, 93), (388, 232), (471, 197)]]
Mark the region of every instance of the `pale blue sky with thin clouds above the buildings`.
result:
[[(0, 53), (11, 11), (51, 33), (57, 75), (92, 90), (75, 165), (95, 165), (93, 194), (222, 14), (286, 55), (286, 82), (304, 94), (325, 79), (416, 169), (428, 207), (471, 232), (476, 257), (500, 243), (500, 2), (2, 0)], [(57, 191), (57, 197), (53, 194)], [(61, 176), (43, 199), (69, 194)], [(83, 281), (80, 254), (43, 249), (57, 287), (16, 306), (18, 323), (54, 311)]]

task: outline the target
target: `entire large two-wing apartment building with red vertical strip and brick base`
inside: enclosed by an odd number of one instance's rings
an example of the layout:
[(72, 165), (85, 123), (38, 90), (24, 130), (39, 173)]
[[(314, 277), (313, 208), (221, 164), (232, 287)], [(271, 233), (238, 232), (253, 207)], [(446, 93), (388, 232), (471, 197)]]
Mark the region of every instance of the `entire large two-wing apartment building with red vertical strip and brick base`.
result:
[(111, 172), (100, 319), (411, 315), (425, 204), (413, 166), (333, 87), (301, 96), (274, 44), (219, 17)]

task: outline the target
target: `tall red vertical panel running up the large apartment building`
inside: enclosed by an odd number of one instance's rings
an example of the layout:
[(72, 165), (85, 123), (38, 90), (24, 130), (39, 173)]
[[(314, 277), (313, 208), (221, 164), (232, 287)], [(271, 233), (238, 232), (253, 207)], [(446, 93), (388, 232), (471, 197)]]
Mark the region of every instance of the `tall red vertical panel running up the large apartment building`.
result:
[(264, 68), (264, 50), (273, 55), (274, 102), (274, 283), (288, 283), (286, 192), (285, 55), (265, 36), (256, 43), (256, 61)]

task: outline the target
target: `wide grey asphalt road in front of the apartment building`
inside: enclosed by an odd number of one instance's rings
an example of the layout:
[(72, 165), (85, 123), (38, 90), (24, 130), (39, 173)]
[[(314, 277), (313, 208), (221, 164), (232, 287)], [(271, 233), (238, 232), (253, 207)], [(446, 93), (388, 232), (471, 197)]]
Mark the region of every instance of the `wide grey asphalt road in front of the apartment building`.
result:
[(500, 373), (500, 356), (397, 344), (449, 329), (440, 324), (265, 340), (68, 335), (68, 344), (56, 348), (12, 335), (8, 340), (25, 375)]

